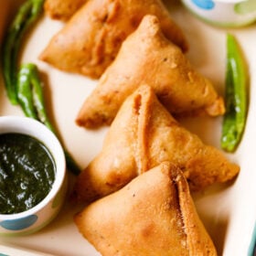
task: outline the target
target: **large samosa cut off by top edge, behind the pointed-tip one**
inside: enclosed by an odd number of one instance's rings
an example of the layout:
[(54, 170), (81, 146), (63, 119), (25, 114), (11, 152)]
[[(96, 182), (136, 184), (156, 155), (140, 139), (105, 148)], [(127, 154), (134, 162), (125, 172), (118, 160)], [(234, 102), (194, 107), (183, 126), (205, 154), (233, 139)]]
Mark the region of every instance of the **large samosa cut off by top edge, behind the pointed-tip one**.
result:
[(98, 79), (146, 14), (157, 16), (165, 37), (187, 50), (182, 30), (161, 0), (91, 0), (50, 40), (39, 58), (58, 69)]

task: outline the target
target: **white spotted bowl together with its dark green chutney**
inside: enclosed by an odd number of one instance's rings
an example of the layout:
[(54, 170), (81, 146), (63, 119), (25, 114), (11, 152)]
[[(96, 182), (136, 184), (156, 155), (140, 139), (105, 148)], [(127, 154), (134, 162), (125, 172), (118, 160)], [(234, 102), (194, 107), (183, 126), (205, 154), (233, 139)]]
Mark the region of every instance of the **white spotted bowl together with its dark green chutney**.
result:
[(58, 138), (27, 117), (0, 117), (0, 236), (34, 233), (59, 213), (67, 192)]

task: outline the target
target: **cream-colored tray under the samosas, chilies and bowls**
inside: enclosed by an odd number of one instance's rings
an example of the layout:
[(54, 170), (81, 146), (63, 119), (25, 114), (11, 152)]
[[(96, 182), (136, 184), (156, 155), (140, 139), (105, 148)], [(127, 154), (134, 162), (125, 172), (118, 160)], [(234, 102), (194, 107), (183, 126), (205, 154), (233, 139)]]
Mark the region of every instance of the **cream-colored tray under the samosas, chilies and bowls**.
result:
[[(0, 1), (4, 5), (8, 1)], [(15, 1), (10, 1), (14, 4)], [(194, 67), (213, 81), (223, 94), (226, 66), (227, 29), (210, 27), (191, 16), (179, 2), (168, 2), (171, 15), (183, 28), (189, 41), (187, 58)], [(7, 8), (0, 7), (2, 19), (8, 17)], [(10, 11), (14, 10), (13, 8)], [(3, 25), (1, 20), (1, 25)], [(97, 80), (89, 80), (52, 69), (39, 61), (37, 56), (63, 24), (42, 17), (31, 31), (24, 48), (22, 61), (33, 61), (44, 73), (48, 108), (57, 124), (61, 138), (81, 167), (89, 164), (101, 150), (102, 140), (108, 128), (97, 132), (87, 131), (74, 123), (85, 98), (94, 89)], [(250, 110), (246, 131), (239, 149), (229, 159), (237, 162), (240, 175), (231, 184), (210, 188), (193, 195), (199, 216), (216, 244), (219, 255), (252, 255), (254, 225), (256, 219), (256, 25), (229, 30), (240, 41), (249, 62), (251, 73)], [(1, 34), (0, 34), (1, 35)], [(6, 98), (3, 82), (0, 84), (0, 115), (23, 115)], [(221, 118), (190, 118), (181, 120), (190, 131), (197, 133), (207, 144), (219, 147)], [(20, 238), (0, 238), (0, 255), (99, 255), (84, 240), (73, 223), (77, 211), (67, 199), (65, 207), (47, 228), (36, 234)], [(1, 254), (2, 253), (2, 254)]]

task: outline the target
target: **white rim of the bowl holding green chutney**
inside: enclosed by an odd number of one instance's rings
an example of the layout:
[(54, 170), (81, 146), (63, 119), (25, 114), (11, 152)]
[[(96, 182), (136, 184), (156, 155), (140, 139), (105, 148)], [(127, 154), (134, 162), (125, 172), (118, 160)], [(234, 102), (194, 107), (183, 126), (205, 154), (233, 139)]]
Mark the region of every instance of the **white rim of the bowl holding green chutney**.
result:
[[(21, 127), (16, 126), (16, 124), (19, 123), (26, 123), (28, 129), (24, 129)], [(54, 153), (51, 152), (51, 149), (48, 148), (48, 150), (50, 151), (50, 154), (53, 156), (55, 164), (56, 164), (56, 176), (55, 176), (55, 181), (51, 187), (51, 190), (48, 193), (48, 196), (45, 197), (42, 201), (40, 201), (35, 207), (33, 208), (29, 208), (26, 211), (22, 211), (19, 213), (14, 213), (14, 214), (0, 214), (0, 221), (3, 220), (14, 220), (14, 219), (23, 219), (26, 218), (28, 216), (31, 215), (35, 215), (37, 214), (37, 212), (42, 209), (45, 208), (48, 205), (48, 202), (50, 202), (59, 192), (59, 188), (62, 186), (62, 184), (64, 183), (65, 180), (65, 176), (66, 176), (66, 160), (65, 160), (65, 155), (64, 155), (64, 151), (63, 148), (61, 146), (61, 144), (59, 143), (59, 139), (57, 138), (57, 136), (52, 133), (47, 126), (45, 126), (43, 123), (38, 122), (37, 120), (34, 120), (32, 118), (28, 118), (28, 117), (22, 117), (22, 116), (12, 116), (12, 115), (8, 115), (8, 116), (1, 116), (0, 117), (0, 134), (2, 134), (1, 129), (3, 128), (3, 125), (5, 125), (5, 127), (7, 127), (8, 125), (12, 126), (13, 130), (8, 131), (7, 133), (24, 133), (30, 136), (34, 136), (35, 138), (37, 138), (36, 135), (34, 135), (33, 133), (29, 133), (29, 131), (31, 128), (37, 128), (39, 129), (40, 132), (43, 133), (47, 133), (47, 135), (50, 137), (50, 140), (53, 144), (55, 144), (56, 146), (56, 152), (58, 155), (58, 157), (55, 157)], [(14, 126), (15, 125), (15, 126)], [(24, 131), (23, 131), (24, 129)], [(16, 131), (16, 132), (15, 132)], [(38, 131), (38, 130), (37, 130)], [(39, 140), (40, 142), (42, 142), (43, 144), (45, 144), (48, 147), (48, 144), (45, 143), (45, 141), (43, 141), (40, 138), (37, 138), (37, 140)]]

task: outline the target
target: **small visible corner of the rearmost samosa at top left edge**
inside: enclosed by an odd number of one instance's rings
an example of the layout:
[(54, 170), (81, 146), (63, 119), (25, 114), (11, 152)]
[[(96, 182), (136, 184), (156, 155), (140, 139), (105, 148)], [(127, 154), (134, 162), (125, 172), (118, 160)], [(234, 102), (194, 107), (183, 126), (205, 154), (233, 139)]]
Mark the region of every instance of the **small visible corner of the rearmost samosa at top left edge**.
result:
[(45, 12), (53, 19), (67, 21), (88, 0), (46, 0)]

